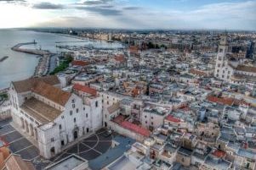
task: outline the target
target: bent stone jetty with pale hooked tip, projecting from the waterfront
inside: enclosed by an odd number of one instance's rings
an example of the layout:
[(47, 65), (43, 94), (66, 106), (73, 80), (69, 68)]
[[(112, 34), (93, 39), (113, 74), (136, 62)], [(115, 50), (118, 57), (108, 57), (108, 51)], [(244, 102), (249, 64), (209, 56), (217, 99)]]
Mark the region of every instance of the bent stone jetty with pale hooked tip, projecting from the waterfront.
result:
[(25, 53), (40, 56), (41, 58), (39, 59), (39, 62), (37, 64), (34, 77), (40, 77), (48, 74), (48, 70), (50, 66), (50, 58), (54, 54), (49, 52), (48, 50), (21, 48), (22, 46), (31, 45), (31, 44), (37, 44), (37, 42), (32, 41), (32, 42), (26, 42), (26, 43), (19, 43), (14, 47), (12, 47), (11, 49), (14, 50), (15, 52), (25, 52)]

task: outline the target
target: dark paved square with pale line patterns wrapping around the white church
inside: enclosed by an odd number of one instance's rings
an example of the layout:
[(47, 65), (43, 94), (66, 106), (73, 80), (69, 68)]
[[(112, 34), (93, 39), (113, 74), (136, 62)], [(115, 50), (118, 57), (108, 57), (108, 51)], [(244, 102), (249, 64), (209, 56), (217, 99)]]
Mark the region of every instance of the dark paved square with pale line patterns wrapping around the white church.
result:
[(71, 154), (77, 154), (88, 161), (93, 160), (111, 147), (111, 135), (105, 136), (105, 129), (100, 129), (96, 134), (79, 141), (59, 155), (50, 160), (45, 160), (42, 156), (39, 156), (37, 147), (12, 127), (11, 121), (11, 119), (0, 121), (0, 136), (9, 143), (10, 151), (19, 154), (23, 159), (30, 160), (37, 169), (43, 169), (48, 164), (58, 162)]

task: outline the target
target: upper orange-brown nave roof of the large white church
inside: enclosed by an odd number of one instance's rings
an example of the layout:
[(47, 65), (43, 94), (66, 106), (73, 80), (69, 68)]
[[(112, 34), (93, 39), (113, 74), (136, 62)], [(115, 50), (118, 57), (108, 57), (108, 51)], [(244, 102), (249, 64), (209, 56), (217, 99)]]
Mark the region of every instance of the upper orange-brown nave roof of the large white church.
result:
[(50, 101), (60, 104), (61, 106), (65, 106), (65, 103), (71, 97), (71, 93), (60, 90), (53, 85), (48, 85), (43, 81), (37, 82), (37, 84), (32, 88), (32, 91), (38, 95), (48, 98)]

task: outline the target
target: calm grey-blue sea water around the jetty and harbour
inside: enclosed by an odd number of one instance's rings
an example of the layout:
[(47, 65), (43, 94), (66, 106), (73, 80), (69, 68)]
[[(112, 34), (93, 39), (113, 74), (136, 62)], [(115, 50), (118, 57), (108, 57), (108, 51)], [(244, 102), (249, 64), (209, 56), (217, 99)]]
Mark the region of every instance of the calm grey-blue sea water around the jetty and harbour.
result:
[[(76, 46), (94, 46), (94, 47), (122, 47), (118, 43), (107, 43), (105, 41), (81, 41), (75, 38), (59, 36), (50, 33), (36, 32), (31, 30), (0, 30), (0, 58), (9, 56), (8, 59), (0, 62), (0, 89), (9, 86), (11, 81), (24, 80), (31, 77), (37, 66), (38, 59), (36, 55), (26, 54), (22, 52), (14, 52), (14, 47), (20, 42), (37, 41), (37, 45), (24, 46), (25, 48), (39, 48), (49, 50), (51, 52), (60, 52), (56, 48), (56, 41), (62, 41), (58, 45), (76, 45)], [(69, 42), (67, 42), (69, 41)]]

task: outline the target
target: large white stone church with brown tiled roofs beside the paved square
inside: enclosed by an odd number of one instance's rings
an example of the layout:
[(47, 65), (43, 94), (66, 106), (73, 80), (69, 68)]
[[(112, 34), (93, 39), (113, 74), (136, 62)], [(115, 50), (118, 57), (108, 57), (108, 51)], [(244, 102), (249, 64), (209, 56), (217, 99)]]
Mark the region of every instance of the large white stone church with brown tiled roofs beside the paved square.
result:
[(40, 155), (50, 158), (70, 142), (102, 127), (102, 100), (89, 92), (78, 96), (60, 90), (54, 75), (12, 82), (13, 121), (35, 141)]

